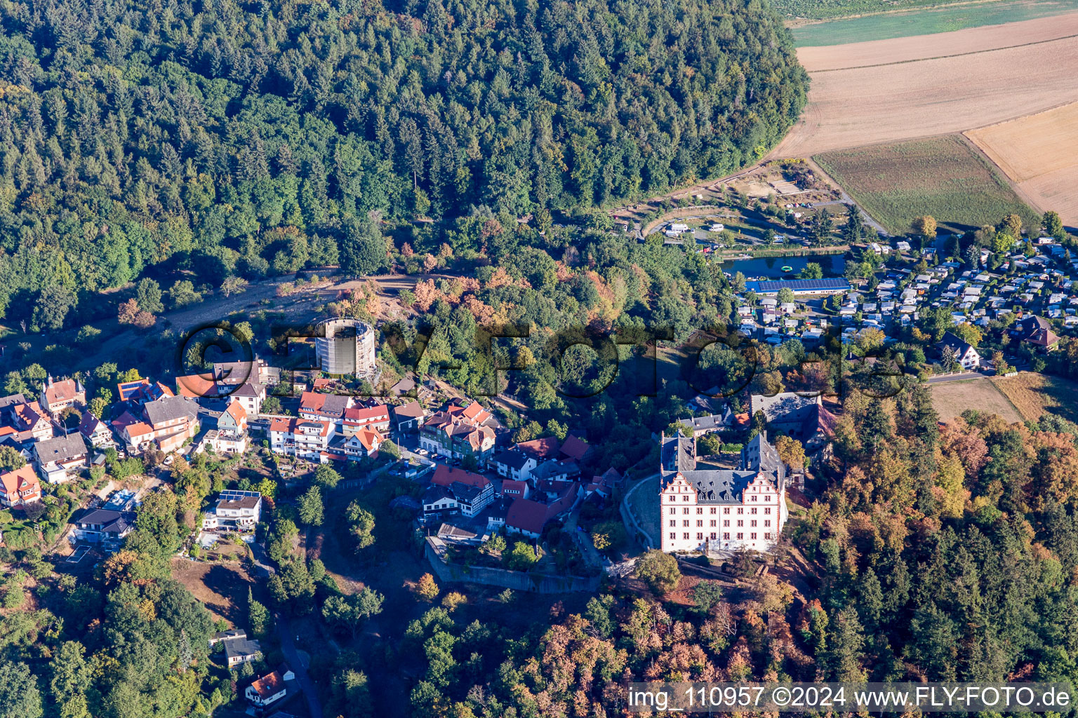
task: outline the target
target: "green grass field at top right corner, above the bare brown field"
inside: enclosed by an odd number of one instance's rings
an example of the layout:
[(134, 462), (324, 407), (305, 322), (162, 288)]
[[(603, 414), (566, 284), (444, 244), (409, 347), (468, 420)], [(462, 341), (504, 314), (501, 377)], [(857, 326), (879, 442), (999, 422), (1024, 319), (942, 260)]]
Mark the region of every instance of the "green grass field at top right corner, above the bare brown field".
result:
[[(821, 10), (818, 11), (818, 14), (801, 14), (799, 16), (826, 18), (861, 12), (894, 10), (895, 8), (906, 5), (913, 8), (915, 5), (938, 5), (939, 3), (914, 1), (896, 4), (873, 0), (854, 0), (848, 3), (848, 6), (853, 8), (848, 12), (834, 12), (830, 14), (824, 13), (829, 13), (832, 6), (835, 9), (847, 6), (847, 3), (839, 2), (817, 5), (817, 3), (807, 2), (806, 0), (782, 0), (777, 4), (784, 9), (783, 12), (791, 12), (786, 11), (786, 6), (794, 8), (804, 5), (805, 9), (802, 12), (812, 12), (812, 8), (819, 6)], [(872, 6), (873, 10), (860, 9), (862, 6)], [(929, 6), (911, 10), (910, 12), (834, 19), (827, 23), (814, 23), (797, 27), (791, 29), (790, 32), (792, 32), (793, 42), (798, 47), (844, 45), (851, 42), (950, 32), (951, 30), (963, 30), (970, 27), (981, 27), (982, 25), (1018, 23), (1074, 11), (1078, 11), (1078, 0), (998, 0), (996, 2)]]

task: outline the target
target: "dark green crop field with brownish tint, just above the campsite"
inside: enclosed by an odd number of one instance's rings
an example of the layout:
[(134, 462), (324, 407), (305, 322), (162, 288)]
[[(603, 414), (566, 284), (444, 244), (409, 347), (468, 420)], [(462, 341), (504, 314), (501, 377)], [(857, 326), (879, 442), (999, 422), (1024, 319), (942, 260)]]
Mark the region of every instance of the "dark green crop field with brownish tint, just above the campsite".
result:
[(925, 214), (952, 229), (996, 224), (1012, 212), (1027, 226), (1040, 221), (957, 135), (828, 152), (815, 159), (890, 233), (908, 231)]

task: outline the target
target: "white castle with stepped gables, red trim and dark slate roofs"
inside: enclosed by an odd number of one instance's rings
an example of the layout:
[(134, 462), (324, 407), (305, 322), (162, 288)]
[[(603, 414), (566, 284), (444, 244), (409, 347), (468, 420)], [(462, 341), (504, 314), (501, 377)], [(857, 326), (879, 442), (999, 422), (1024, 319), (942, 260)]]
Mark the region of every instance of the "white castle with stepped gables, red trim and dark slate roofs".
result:
[(786, 523), (786, 465), (763, 434), (736, 469), (696, 462), (693, 437), (663, 436), (660, 511), (663, 551), (768, 551)]

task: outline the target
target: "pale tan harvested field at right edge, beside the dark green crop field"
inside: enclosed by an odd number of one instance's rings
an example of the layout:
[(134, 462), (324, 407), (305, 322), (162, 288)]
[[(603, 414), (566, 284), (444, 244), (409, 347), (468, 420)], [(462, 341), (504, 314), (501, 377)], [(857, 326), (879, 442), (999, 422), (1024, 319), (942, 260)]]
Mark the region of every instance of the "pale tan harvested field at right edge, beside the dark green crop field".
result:
[(1037, 209), (1078, 225), (1078, 102), (966, 132)]

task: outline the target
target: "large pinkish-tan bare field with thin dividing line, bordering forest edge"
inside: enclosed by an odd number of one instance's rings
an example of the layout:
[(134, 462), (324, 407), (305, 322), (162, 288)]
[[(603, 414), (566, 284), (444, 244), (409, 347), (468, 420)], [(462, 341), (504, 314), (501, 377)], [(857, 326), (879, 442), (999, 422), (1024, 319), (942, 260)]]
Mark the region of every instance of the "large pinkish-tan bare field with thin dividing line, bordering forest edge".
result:
[(808, 105), (772, 158), (962, 132), (1078, 101), (1078, 13), (802, 47), (798, 58), (812, 75)]

